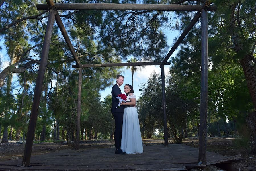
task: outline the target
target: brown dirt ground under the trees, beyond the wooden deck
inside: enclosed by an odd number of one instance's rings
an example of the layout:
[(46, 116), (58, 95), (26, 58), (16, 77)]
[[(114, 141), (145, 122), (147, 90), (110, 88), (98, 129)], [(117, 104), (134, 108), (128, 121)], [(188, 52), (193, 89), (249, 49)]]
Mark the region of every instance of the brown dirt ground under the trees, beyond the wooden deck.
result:
[[(256, 154), (250, 151), (237, 147), (234, 144), (235, 137), (208, 137), (207, 138), (207, 151), (216, 152), (224, 156), (234, 156), (242, 154), (243, 159), (239, 163), (247, 166), (256, 167)], [(0, 139), (1, 141), (1, 139)], [(164, 144), (164, 139), (145, 139), (145, 145), (160, 145)], [(168, 139), (168, 143), (174, 143), (172, 138)], [(197, 147), (199, 144), (198, 137), (184, 138), (183, 144)], [(80, 141), (80, 148), (109, 148), (114, 146), (114, 140), (83, 140)], [(15, 160), (22, 158), (24, 153), (25, 142), (23, 141), (9, 141), (9, 143), (0, 143), (0, 161)], [(68, 147), (64, 141), (56, 142), (40, 142), (36, 141), (33, 144), (32, 154), (44, 154), (59, 150), (64, 150)]]

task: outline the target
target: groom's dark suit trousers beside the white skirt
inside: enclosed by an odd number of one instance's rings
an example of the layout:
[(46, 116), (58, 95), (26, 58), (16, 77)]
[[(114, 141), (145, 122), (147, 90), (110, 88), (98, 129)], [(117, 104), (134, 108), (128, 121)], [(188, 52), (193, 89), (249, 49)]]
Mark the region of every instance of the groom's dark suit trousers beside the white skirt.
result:
[(123, 128), (123, 117), (124, 113), (123, 112), (114, 112), (113, 113), (114, 119), (115, 119), (115, 146), (116, 150), (121, 149), (121, 140), (122, 140), (122, 128)]

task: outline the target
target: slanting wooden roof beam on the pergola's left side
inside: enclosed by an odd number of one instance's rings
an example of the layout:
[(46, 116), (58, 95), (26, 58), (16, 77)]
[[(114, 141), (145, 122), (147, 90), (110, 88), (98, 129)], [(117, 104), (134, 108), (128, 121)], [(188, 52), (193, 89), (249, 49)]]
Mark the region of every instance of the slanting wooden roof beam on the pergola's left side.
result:
[(64, 27), (64, 25), (63, 25), (63, 23), (62, 23), (62, 20), (61, 20), (61, 18), (60, 18), (60, 15), (59, 15), (58, 11), (56, 12), (55, 20), (56, 20), (57, 25), (58, 25), (59, 28), (60, 28), (60, 31), (61, 31), (61, 33), (62, 33), (62, 36), (64, 37), (64, 39), (65, 39), (65, 41), (66, 41), (66, 43), (67, 43), (67, 46), (68, 46), (68, 48), (69, 48), (71, 54), (73, 55), (73, 57), (74, 57), (74, 59), (75, 59), (75, 62), (77, 63), (78, 67), (81, 67), (80, 61), (79, 61), (79, 59), (78, 59), (78, 57), (77, 57), (77, 54), (75, 53), (75, 49), (74, 49), (74, 47), (72, 46), (72, 43), (71, 43), (71, 41), (70, 41), (70, 39), (69, 39), (69, 36), (67, 35), (67, 31), (66, 31), (66, 29), (65, 29), (65, 27)]

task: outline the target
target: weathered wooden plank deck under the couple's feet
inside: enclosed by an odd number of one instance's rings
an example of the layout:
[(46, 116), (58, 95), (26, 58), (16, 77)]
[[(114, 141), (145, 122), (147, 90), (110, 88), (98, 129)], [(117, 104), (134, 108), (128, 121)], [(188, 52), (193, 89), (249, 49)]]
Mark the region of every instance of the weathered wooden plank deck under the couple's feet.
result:
[[(62, 150), (44, 155), (32, 155), (30, 165), (19, 167), (22, 160), (0, 162), (0, 170), (31, 171), (167, 171), (200, 168), (198, 148), (184, 144), (143, 146), (143, 154), (116, 155), (114, 148)], [(207, 165), (237, 160), (237, 156), (222, 156), (207, 152)]]

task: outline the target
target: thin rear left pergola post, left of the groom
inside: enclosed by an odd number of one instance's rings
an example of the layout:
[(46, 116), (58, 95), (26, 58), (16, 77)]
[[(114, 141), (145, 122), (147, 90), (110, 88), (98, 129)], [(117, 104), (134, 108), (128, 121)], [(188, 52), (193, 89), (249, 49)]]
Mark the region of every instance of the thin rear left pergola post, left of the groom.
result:
[(79, 142), (80, 142), (81, 94), (82, 94), (82, 68), (79, 68), (79, 74), (78, 74), (78, 93), (77, 93), (77, 121), (76, 121), (77, 123), (76, 123), (75, 150), (79, 150)]

